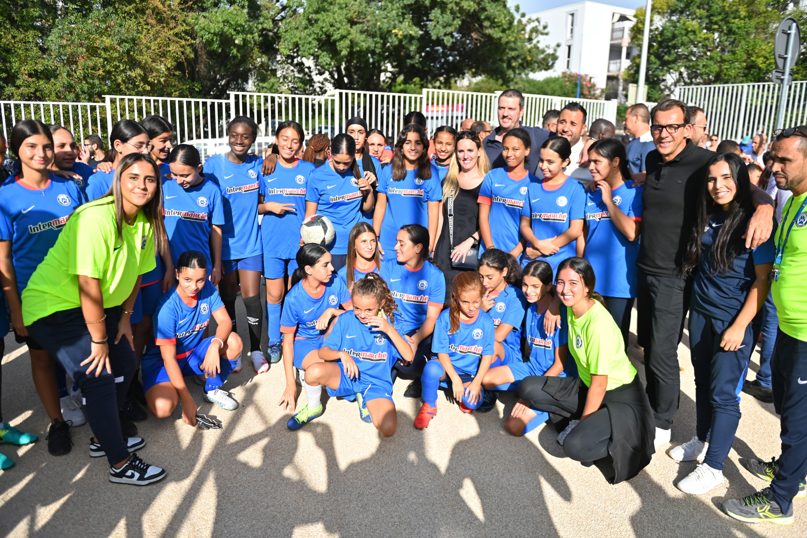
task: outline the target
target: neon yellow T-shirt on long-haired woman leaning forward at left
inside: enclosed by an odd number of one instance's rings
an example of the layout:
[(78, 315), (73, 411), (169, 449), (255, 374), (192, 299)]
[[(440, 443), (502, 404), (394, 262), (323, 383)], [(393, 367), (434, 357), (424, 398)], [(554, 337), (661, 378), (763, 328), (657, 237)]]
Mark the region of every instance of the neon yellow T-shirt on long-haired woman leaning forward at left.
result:
[(77, 275), (98, 278), (104, 308), (117, 307), (132, 294), (137, 277), (154, 269), (154, 234), (143, 212), (132, 226), (115, 223), (112, 197), (98, 198), (70, 216), (56, 244), (23, 290), (23, 323), (81, 307)]

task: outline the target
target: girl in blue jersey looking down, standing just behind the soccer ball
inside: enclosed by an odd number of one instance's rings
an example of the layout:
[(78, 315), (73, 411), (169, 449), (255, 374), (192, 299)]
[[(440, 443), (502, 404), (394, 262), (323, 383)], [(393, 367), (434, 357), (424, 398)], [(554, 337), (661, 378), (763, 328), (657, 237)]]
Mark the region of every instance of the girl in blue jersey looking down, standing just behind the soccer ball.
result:
[(333, 137), (331, 160), (308, 180), (305, 218), (319, 214), (333, 223), (336, 237), (328, 247), (336, 269), (345, 266), (350, 230), (362, 219), (362, 211), (370, 211), (375, 204), (373, 181), (373, 173), (359, 169), (356, 141), (345, 133)]

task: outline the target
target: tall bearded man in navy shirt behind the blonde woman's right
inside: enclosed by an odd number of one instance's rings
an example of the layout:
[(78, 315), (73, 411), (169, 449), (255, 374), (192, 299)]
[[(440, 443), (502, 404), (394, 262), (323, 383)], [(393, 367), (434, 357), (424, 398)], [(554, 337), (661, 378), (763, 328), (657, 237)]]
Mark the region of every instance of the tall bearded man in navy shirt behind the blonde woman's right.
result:
[(538, 156), (541, 153), (541, 144), (550, 137), (550, 131), (541, 127), (525, 127), (521, 125), (521, 117), (524, 116), (524, 95), (518, 90), (504, 90), (499, 96), (499, 127), (496, 127), (485, 140), (482, 146), (487, 153), (488, 161), (491, 161), (491, 169), (504, 168), (507, 164), (502, 156), (502, 140), (508, 131), (521, 127), (529, 133), (529, 155), (524, 161), (524, 167), (529, 173), (538, 179), (543, 179), (544, 174), (538, 168)]

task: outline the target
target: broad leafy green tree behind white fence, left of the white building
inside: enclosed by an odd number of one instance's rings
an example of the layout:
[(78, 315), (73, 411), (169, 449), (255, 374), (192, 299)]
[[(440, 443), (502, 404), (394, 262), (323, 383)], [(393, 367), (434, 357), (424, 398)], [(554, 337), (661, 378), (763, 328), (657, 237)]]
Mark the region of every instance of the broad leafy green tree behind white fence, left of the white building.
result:
[[(289, 0), (280, 27), (286, 65), (311, 88), (449, 86), (470, 74), (512, 81), (549, 69), (546, 25), (498, 0)], [(517, 9), (517, 6), (516, 6)], [(304, 61), (303, 59), (310, 59)]]

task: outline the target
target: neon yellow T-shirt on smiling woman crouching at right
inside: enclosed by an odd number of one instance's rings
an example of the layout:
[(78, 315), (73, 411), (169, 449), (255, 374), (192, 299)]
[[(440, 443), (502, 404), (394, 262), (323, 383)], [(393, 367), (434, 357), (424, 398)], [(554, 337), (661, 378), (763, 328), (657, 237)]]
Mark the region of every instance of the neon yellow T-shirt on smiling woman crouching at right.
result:
[(636, 377), (636, 369), (625, 355), (622, 333), (599, 301), (575, 319), (567, 309), (569, 351), (575, 357), (580, 380), (592, 386), (592, 373), (608, 376), (608, 389), (626, 385)]

